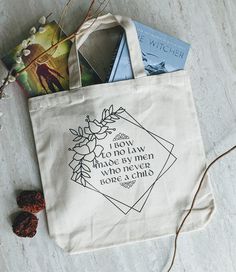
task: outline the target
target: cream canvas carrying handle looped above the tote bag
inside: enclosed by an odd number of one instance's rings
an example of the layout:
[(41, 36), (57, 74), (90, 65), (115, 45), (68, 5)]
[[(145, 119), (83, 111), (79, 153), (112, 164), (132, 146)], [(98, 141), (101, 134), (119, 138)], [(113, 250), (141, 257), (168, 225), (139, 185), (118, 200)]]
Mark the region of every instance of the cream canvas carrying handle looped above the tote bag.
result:
[(91, 33), (97, 30), (109, 29), (117, 25), (120, 25), (125, 30), (134, 78), (146, 76), (134, 23), (128, 17), (108, 13), (96, 19), (86, 21), (82, 25), (78, 35), (75, 36), (68, 59), (70, 90), (78, 89), (82, 86), (78, 49)]

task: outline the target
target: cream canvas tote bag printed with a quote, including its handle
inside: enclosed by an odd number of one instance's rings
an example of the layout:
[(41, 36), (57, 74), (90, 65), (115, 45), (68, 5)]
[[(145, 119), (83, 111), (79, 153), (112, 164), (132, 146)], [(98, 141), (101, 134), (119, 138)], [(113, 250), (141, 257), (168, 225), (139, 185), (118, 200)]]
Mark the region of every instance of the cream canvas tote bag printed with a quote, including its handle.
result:
[[(134, 79), (81, 87), (77, 50), (116, 25)], [(146, 76), (132, 20), (112, 14), (83, 25), (69, 72), (70, 90), (29, 99), (50, 236), (79, 253), (175, 233), (206, 167), (188, 74)], [(213, 210), (206, 180), (183, 230)]]

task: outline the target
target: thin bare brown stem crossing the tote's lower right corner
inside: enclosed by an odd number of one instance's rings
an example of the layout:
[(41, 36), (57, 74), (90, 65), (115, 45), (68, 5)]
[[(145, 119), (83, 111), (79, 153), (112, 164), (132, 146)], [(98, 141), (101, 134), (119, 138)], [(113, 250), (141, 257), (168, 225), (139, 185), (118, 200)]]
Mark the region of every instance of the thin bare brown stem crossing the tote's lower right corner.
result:
[(184, 216), (180, 226), (178, 227), (177, 231), (176, 231), (176, 234), (175, 234), (175, 242), (174, 242), (174, 252), (173, 252), (173, 256), (172, 256), (172, 259), (171, 259), (171, 264), (167, 270), (167, 272), (170, 272), (173, 265), (174, 265), (174, 262), (175, 262), (175, 257), (176, 257), (176, 251), (177, 251), (177, 241), (178, 241), (178, 237), (179, 237), (179, 234), (184, 226), (184, 223), (185, 221), (187, 220), (187, 218), (189, 217), (189, 215), (191, 214), (192, 210), (193, 210), (193, 207), (194, 207), (194, 204), (196, 202), (196, 199), (197, 199), (197, 196), (198, 196), (198, 193), (200, 192), (200, 189), (204, 183), (204, 178), (207, 174), (207, 172), (209, 171), (209, 169), (211, 168), (211, 166), (213, 164), (215, 164), (219, 159), (221, 159), (222, 157), (224, 157), (225, 155), (229, 154), (231, 151), (233, 151), (234, 149), (236, 148), (236, 145), (233, 146), (232, 148), (230, 148), (229, 150), (225, 151), (223, 154), (219, 155), (218, 157), (216, 157), (208, 166), (207, 168), (205, 169), (205, 171), (203, 172), (203, 175), (202, 175), (202, 178), (199, 182), (199, 185), (198, 185), (198, 188), (197, 188), (197, 191), (195, 192), (194, 194), (194, 197), (193, 197), (193, 200), (192, 200), (192, 203), (191, 203), (191, 206), (190, 206), (190, 209), (189, 211), (187, 212), (187, 214)]

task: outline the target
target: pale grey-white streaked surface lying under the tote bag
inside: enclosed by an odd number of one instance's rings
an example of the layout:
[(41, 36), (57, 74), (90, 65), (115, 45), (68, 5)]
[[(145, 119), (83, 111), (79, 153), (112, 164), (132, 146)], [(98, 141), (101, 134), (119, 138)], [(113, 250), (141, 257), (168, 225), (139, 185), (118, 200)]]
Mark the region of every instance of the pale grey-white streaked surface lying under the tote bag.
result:
[[(19, 43), (43, 14), (59, 14), (64, 1), (0, 0), (0, 53)], [(86, 1), (74, 1), (67, 30), (84, 14)], [(81, 5), (81, 8), (79, 6)], [(111, 1), (107, 11), (131, 16), (191, 43), (186, 69), (209, 162), (236, 142), (236, 2)], [(77, 16), (78, 14), (78, 16)], [(102, 58), (102, 56), (101, 56)], [(1, 74), (5, 75), (1, 68)], [(208, 77), (206, 77), (206, 75)], [(1, 272), (87, 271), (157, 272), (173, 249), (173, 237), (68, 256), (49, 238), (45, 214), (38, 234), (20, 239), (11, 231), (15, 196), (40, 188), (40, 176), (25, 97), (14, 84), (0, 101), (0, 267)], [(193, 166), (194, 167), (194, 166)], [(181, 236), (173, 271), (236, 271), (236, 151), (210, 171), (217, 211), (203, 230)]]

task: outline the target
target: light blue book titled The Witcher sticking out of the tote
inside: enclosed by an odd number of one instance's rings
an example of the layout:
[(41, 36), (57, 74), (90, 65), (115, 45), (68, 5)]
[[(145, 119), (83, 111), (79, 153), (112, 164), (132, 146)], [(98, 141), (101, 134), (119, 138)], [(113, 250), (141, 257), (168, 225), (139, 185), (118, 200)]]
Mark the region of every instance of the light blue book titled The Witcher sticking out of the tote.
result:
[[(190, 45), (168, 34), (133, 21), (137, 30), (147, 75), (173, 72), (184, 68)], [(108, 82), (133, 78), (125, 34), (108, 75)]]

